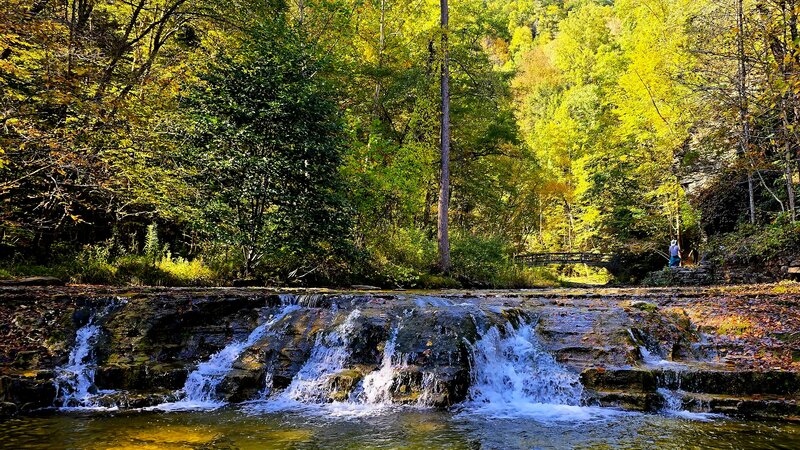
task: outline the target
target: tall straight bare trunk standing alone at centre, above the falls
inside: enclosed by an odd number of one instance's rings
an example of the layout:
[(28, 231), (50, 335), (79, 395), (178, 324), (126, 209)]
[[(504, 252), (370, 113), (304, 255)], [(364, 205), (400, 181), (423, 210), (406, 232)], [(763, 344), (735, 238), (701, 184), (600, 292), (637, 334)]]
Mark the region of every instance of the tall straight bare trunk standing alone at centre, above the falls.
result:
[(448, 214), (450, 211), (450, 68), (447, 34), (449, 11), (447, 0), (440, 0), (442, 27), (442, 173), (439, 180), (439, 269), (450, 271), (450, 236)]

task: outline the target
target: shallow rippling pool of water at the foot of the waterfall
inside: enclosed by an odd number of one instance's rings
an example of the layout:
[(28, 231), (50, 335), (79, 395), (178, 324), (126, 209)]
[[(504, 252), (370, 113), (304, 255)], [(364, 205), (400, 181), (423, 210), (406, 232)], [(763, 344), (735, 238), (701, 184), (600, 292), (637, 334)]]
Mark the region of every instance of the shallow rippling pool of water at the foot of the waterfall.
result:
[[(545, 408), (543, 406), (543, 408)], [(546, 409), (546, 408), (545, 408)], [(582, 411), (551, 418), (464, 410), (58, 412), (0, 423), (3, 449), (798, 449), (800, 424)]]

